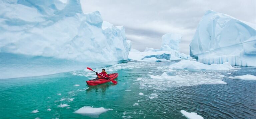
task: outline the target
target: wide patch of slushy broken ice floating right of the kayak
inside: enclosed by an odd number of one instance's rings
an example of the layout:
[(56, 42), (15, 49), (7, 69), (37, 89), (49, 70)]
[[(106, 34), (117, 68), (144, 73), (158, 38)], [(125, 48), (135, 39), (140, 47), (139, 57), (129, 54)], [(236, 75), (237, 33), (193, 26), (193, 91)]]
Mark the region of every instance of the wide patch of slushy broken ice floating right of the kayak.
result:
[(164, 90), (172, 87), (195, 86), (202, 84), (226, 84), (222, 81), (224, 75), (219, 71), (197, 71), (179, 70), (168, 75), (163, 72), (161, 75), (150, 75), (150, 77), (139, 77), (135, 81), (140, 89)]

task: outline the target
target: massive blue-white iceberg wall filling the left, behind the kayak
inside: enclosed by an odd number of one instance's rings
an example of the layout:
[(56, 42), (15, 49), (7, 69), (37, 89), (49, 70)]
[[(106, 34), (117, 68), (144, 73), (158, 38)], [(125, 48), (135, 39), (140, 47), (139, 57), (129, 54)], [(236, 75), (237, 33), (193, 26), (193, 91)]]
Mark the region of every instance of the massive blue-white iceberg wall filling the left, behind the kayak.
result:
[(0, 1), (0, 78), (46, 75), (128, 59), (123, 26), (84, 14), (80, 0)]

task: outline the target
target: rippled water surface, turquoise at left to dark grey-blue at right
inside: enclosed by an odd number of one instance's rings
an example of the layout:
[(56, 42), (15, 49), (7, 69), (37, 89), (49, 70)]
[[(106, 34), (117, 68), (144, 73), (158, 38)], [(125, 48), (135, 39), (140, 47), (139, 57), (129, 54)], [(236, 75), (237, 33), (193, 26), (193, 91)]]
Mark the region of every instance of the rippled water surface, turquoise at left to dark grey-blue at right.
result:
[[(180, 110), (196, 112), (207, 119), (256, 117), (256, 81), (228, 78), (256, 75), (256, 67), (238, 67), (240, 69), (230, 71), (183, 69), (168, 72), (166, 66), (175, 62), (124, 62), (104, 67), (108, 73), (119, 73), (117, 85), (109, 82), (88, 86), (85, 81), (95, 77), (88, 70), (1, 79), (0, 117), (92, 118), (73, 113), (83, 106), (111, 109), (99, 118), (185, 119)], [(95, 70), (100, 71), (101, 68)], [(150, 77), (164, 71), (181, 79)], [(139, 95), (140, 92), (144, 95)], [(63, 98), (66, 100), (60, 101)], [(70, 106), (61, 108), (60, 104)], [(47, 111), (48, 108), (51, 111)], [(39, 112), (31, 113), (36, 109)]]

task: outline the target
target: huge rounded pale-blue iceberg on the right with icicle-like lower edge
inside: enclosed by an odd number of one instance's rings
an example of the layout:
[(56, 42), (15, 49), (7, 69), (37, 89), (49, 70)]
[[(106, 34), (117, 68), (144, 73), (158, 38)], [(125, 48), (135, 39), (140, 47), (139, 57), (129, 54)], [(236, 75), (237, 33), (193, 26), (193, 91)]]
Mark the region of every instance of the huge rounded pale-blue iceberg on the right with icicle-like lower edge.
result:
[(256, 25), (209, 10), (190, 43), (190, 56), (205, 64), (256, 66)]

